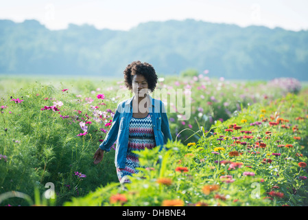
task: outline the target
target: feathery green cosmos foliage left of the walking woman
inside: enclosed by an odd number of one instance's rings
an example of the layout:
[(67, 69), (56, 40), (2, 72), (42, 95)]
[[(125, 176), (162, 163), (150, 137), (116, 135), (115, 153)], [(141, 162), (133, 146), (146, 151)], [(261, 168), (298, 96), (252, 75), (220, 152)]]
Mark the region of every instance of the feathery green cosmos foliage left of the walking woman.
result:
[[(88, 87), (93, 88), (93, 85), (88, 83)], [(106, 135), (100, 129), (108, 130), (104, 123), (93, 121), (86, 136), (77, 136), (83, 133), (79, 123), (92, 120), (91, 104), (97, 104), (98, 100), (87, 103), (83, 97), (76, 101), (76, 94), (60, 89), (34, 83), (12, 96), (23, 102), (12, 102), (10, 96), (5, 97), (6, 102), (1, 102), (5, 108), (1, 110), (0, 118), (3, 120), (0, 154), (8, 158), (6, 162), (0, 161), (0, 192), (16, 190), (33, 196), (34, 187), (44, 190), (45, 184), (51, 182), (55, 184), (59, 205), (72, 196), (85, 195), (97, 186), (117, 181), (115, 151), (106, 154), (101, 164), (93, 164), (99, 140), (104, 140)], [(63, 107), (59, 107), (60, 113), (41, 110), (58, 101), (63, 103)], [(109, 102), (108, 108), (115, 109), (115, 104)], [(106, 109), (104, 106), (101, 111)], [(75, 172), (87, 177), (79, 178)], [(26, 204), (19, 199), (8, 199), (7, 202), (16, 206)]]

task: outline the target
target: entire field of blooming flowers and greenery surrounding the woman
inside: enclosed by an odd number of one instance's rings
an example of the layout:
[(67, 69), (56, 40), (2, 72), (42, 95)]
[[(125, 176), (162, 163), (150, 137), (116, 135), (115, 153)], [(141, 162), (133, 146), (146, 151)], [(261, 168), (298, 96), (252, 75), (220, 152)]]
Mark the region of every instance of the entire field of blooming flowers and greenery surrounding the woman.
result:
[[(123, 98), (121, 80), (42, 80), (16, 83), (14, 92), (4, 85), (0, 206), (308, 203), (308, 90), (294, 80), (160, 78), (158, 89), (188, 89), (190, 117), (167, 111), (174, 142), (140, 153), (143, 168), (126, 189), (117, 179), (115, 151), (93, 164)], [(46, 199), (49, 189), (55, 199)]]

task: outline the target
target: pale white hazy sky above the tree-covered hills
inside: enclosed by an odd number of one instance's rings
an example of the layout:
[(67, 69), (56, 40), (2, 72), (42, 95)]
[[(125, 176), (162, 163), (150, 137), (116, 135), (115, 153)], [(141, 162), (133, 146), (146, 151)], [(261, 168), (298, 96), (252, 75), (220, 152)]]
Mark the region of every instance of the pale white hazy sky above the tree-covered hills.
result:
[(307, 0), (0, 0), (0, 19), (36, 19), (51, 30), (69, 23), (129, 30), (147, 21), (196, 19), (308, 30)]

